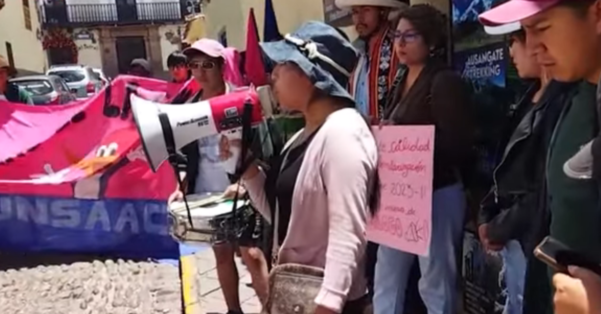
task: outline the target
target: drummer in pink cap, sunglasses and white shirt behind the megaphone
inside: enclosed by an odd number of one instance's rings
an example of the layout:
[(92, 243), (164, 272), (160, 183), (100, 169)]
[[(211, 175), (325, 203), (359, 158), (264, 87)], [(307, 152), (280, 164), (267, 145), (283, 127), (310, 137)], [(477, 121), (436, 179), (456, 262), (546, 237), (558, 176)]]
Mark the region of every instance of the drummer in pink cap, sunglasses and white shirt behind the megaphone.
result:
[[(226, 51), (222, 44), (203, 38), (183, 50), (183, 53), (188, 58), (188, 67), (192, 76), (201, 86), (201, 91), (186, 103), (198, 103), (233, 91), (234, 86), (224, 79), (225, 68), (237, 68), (237, 65), (231, 67), (226, 64), (230, 58), (226, 58)], [(203, 137), (182, 149), (187, 157), (183, 190), (188, 194), (206, 195), (225, 191), (225, 198), (233, 198), (236, 192), (239, 195), (244, 194), (236, 184), (230, 185), (230, 178), (219, 159), (220, 139), (218, 135)], [(181, 191), (178, 187), (169, 198), (169, 203), (181, 201), (183, 199)], [(227, 232), (219, 232), (218, 238), (213, 243), (217, 276), (228, 307), (228, 314), (242, 314), (238, 291), (239, 276), (234, 262), (236, 246), (240, 247), (242, 260), (251, 273), (253, 287), (261, 302), (264, 302), (267, 295), (267, 261), (260, 249), (263, 220), (258, 214), (244, 217), (244, 221), (240, 222), (242, 229), (236, 233), (236, 243), (231, 243), (227, 238)], [(225, 238), (220, 238), (221, 236)]]

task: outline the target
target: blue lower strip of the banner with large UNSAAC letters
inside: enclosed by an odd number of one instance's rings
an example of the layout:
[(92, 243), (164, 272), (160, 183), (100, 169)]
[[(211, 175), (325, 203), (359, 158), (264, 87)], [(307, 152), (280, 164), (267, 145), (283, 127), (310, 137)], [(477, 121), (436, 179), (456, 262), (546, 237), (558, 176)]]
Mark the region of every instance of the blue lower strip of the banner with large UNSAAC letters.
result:
[(177, 258), (165, 202), (0, 195), (0, 250)]

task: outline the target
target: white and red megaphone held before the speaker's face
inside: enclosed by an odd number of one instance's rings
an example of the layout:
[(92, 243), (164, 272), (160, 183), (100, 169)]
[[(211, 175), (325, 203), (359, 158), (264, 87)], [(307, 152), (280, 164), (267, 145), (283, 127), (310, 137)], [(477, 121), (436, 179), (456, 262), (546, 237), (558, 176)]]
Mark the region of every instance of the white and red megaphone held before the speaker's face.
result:
[[(162, 104), (132, 94), (132, 112), (142, 139), (144, 153), (153, 171), (168, 159), (169, 142), (181, 149), (201, 137), (222, 134), (220, 140), (242, 139), (242, 117), (248, 107), (251, 125), (263, 122), (261, 111), (272, 110), (267, 86), (239, 89), (210, 100), (189, 104)], [(261, 96), (260, 96), (261, 95)], [(261, 110), (260, 98), (264, 99)], [(248, 106), (246, 106), (248, 105)], [(233, 174), (240, 156), (240, 146), (230, 145), (227, 159), (222, 160), (225, 171)]]

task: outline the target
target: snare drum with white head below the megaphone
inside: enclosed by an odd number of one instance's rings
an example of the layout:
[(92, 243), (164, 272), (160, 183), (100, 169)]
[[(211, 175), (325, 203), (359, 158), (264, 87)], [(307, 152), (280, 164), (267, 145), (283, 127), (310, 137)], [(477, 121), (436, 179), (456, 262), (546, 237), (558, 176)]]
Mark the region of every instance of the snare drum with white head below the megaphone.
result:
[[(175, 240), (187, 243), (219, 243), (235, 240), (242, 232), (246, 217), (252, 214), (248, 201), (233, 202), (215, 195), (188, 196), (192, 225), (183, 202), (169, 207), (169, 233)], [(250, 211), (250, 213), (248, 213)]]

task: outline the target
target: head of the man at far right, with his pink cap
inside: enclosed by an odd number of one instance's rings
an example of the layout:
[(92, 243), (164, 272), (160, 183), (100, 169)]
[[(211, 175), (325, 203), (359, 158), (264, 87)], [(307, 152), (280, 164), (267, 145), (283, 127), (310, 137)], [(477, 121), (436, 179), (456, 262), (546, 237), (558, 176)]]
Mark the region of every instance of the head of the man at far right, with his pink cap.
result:
[(591, 59), (599, 59), (601, 49), (600, 7), (598, 0), (510, 0), (479, 18), (484, 25), (521, 22), (538, 62), (555, 79), (597, 83), (601, 60)]

